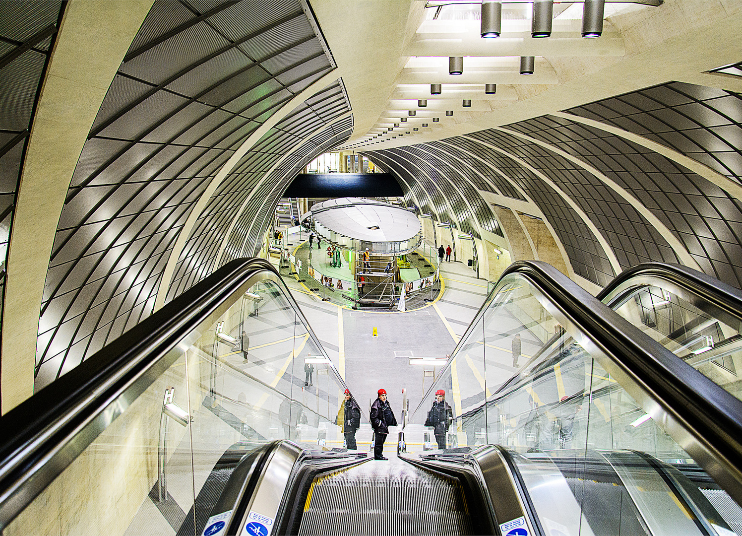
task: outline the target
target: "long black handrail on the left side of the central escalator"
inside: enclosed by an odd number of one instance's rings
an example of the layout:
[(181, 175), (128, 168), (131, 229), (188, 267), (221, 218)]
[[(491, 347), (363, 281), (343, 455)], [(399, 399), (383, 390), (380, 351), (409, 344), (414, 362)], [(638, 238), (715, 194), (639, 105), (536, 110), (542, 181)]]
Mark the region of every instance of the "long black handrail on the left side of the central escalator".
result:
[[(125, 394), (134, 382), (159, 376), (162, 370), (157, 370), (157, 363), (180, 341), (244, 285), (266, 279), (282, 287), (284, 298), (327, 357), (269, 261), (241, 258), (229, 262), (0, 417), (0, 429), (5, 431), (0, 437), (0, 529), (64, 471), (74, 453), (98, 435), (86, 433), (81, 439), (81, 431), (93, 422), (101, 423), (102, 431), (115, 418), (106, 408), (115, 401), (120, 414), (133, 402)], [(335, 381), (346, 388), (329, 358), (327, 362)], [(68, 451), (62, 453), (65, 448)]]

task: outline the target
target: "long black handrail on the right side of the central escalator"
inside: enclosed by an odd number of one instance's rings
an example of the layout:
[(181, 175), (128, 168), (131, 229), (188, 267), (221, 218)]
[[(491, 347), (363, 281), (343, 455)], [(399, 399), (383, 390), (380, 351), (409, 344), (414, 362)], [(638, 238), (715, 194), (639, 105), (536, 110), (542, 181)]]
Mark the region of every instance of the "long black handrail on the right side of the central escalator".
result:
[[(608, 372), (626, 380), (631, 396), (653, 405), (655, 422), (689, 452), (721, 486), (742, 503), (742, 401), (703, 376), (670, 350), (611, 310), (550, 264), (519, 261), (505, 269), (439, 374), (446, 377), (453, 359), (482, 321), (499, 285), (519, 275), (533, 285), (608, 356)], [(481, 329), (481, 328), (480, 328)], [(627, 388), (626, 385), (622, 386)], [(429, 399), (433, 382), (416, 412)], [(628, 390), (628, 389), (627, 389)], [(645, 405), (645, 406), (646, 406)], [(416, 413), (415, 412), (415, 413)]]

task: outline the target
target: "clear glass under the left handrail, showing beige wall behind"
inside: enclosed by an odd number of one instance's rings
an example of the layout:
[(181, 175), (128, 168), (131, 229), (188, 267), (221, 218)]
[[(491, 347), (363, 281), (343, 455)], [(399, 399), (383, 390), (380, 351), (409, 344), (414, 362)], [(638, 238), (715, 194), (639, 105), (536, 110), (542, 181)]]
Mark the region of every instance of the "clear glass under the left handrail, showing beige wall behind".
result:
[(218, 307), (4, 534), (201, 534), (245, 454), (341, 447), (344, 384), (284, 292), (262, 272)]

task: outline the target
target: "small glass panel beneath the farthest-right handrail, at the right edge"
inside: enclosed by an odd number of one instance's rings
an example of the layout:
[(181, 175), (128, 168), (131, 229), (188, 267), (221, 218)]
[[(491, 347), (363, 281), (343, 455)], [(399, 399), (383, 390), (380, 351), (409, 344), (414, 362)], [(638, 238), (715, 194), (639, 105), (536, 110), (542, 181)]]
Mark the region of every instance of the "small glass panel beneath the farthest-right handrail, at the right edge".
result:
[(742, 335), (669, 290), (640, 287), (614, 309), (717, 385), (742, 399)]

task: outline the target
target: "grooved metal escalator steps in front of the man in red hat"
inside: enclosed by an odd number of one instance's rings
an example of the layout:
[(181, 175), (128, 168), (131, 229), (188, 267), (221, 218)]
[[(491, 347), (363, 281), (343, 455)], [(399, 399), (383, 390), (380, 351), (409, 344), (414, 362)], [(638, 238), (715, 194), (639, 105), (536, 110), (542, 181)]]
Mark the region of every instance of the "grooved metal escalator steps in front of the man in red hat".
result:
[(300, 535), (468, 535), (456, 480), (402, 462), (364, 463), (315, 478)]

